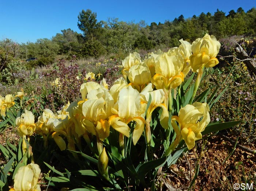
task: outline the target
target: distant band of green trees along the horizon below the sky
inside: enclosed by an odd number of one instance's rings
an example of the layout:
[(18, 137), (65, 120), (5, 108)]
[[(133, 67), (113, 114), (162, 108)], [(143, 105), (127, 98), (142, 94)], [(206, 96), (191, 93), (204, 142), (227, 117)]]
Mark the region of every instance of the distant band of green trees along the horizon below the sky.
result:
[(183, 15), (165, 23), (123, 22), (118, 19), (97, 20), (97, 13), (90, 9), (78, 15), (78, 27), (82, 34), (70, 28), (61, 30), (52, 39), (17, 44), (10, 39), (0, 41), (0, 69), (10, 59), (44, 58), (49, 61), (56, 55), (76, 55), (78, 58), (98, 57), (105, 54), (127, 54), (133, 50), (152, 50), (179, 46), (179, 39), (192, 42), (208, 33), (217, 39), (233, 35), (256, 34), (256, 8), (245, 12), (242, 8), (229, 14), (217, 9), (193, 15)]

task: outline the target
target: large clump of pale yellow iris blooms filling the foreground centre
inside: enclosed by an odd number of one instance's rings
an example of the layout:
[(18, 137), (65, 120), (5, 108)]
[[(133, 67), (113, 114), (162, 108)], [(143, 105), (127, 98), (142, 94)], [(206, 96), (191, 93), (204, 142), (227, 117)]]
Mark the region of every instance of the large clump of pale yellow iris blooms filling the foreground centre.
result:
[[(168, 52), (152, 52), (146, 59), (141, 60), (137, 52), (129, 54), (123, 64), (123, 77), (117, 79), (109, 88), (106, 80), (100, 84), (90, 81), (80, 86), (82, 98), (67, 104), (54, 114), (45, 109), (38, 122), (33, 124), (30, 113), (19, 120), (20, 135), (31, 135), (35, 131), (42, 135), (47, 146), (47, 139), (52, 137), (61, 150), (66, 148), (75, 151), (80, 147), (83, 138), (89, 147), (93, 137), (97, 140), (99, 171), (108, 179), (108, 156), (103, 141), (110, 135), (110, 126), (119, 132), (119, 145), (124, 156), (124, 137), (132, 136), (136, 145), (145, 133), (150, 147), (150, 122), (156, 108), (162, 108), (160, 124), (164, 129), (170, 129), (169, 116), (172, 114), (172, 89), (180, 86), (185, 76), (191, 70), (198, 72), (200, 82), (204, 67), (218, 64), (216, 58), (220, 44), (214, 36), (206, 34), (196, 39), (192, 45), (180, 40), (180, 47)], [(86, 78), (94, 78), (95, 74), (88, 73)], [(196, 94), (199, 83), (196, 83)], [(195, 146), (195, 141), (202, 138), (201, 132), (210, 122), (209, 107), (206, 103), (193, 102), (183, 105), (178, 116), (172, 116), (171, 125), (176, 133), (176, 139), (167, 149), (169, 155), (184, 140), (188, 149)], [(25, 117), (28, 116), (26, 123)], [(31, 117), (31, 118), (30, 118)], [(132, 128), (133, 127), (133, 128)], [(93, 148), (91, 148), (93, 149)]]

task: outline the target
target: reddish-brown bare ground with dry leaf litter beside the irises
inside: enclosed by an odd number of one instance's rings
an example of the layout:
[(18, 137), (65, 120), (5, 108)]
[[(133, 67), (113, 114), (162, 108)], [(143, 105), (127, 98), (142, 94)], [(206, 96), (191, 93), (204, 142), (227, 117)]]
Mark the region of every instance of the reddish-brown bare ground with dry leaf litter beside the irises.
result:
[[(225, 161), (233, 146), (219, 136), (211, 137), (207, 142), (200, 141), (177, 164), (161, 172), (157, 179), (158, 190), (189, 190), (198, 163), (199, 174), (191, 190), (233, 191), (235, 183), (253, 183), (256, 187), (256, 156), (236, 148)], [(253, 147), (251, 149), (255, 150)]]

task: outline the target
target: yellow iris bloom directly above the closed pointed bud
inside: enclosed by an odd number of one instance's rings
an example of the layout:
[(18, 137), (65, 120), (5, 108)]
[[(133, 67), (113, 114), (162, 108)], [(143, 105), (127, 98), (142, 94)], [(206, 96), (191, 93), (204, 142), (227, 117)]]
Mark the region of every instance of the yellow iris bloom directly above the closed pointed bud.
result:
[[(71, 103), (68, 108), (69, 117), (74, 123), (76, 137), (83, 136), (90, 143), (89, 133), (97, 137), (99, 154), (102, 151), (102, 141), (109, 136), (110, 125), (108, 117), (112, 115), (114, 100), (109, 93), (105, 79), (100, 84), (96, 82), (83, 83), (80, 88), (82, 100)], [(66, 133), (67, 134), (67, 133)], [(58, 134), (54, 134), (59, 142), (63, 142)], [(64, 135), (66, 136), (66, 135)]]

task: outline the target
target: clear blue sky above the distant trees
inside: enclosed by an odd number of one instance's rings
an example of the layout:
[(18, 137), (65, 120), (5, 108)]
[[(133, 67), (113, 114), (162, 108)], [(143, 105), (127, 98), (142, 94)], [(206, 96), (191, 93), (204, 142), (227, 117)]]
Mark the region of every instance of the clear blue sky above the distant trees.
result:
[(180, 15), (189, 18), (202, 12), (214, 14), (217, 9), (227, 15), (239, 7), (246, 12), (256, 7), (256, 0), (0, 0), (0, 40), (36, 42), (67, 28), (82, 33), (77, 27), (82, 9), (96, 12), (98, 21), (118, 18), (134, 23), (144, 20), (150, 25), (172, 21)]

